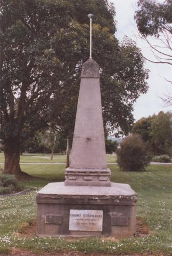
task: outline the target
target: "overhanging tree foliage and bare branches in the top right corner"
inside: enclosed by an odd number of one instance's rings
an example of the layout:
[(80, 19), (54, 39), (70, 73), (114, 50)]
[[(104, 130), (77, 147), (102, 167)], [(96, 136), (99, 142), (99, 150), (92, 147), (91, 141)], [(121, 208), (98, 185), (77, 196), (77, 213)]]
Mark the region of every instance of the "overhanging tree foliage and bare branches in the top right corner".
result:
[[(154, 59), (149, 60), (153, 63), (172, 65), (172, 2), (165, 0), (139, 0), (138, 10), (135, 12), (137, 28), (150, 46)], [(154, 36), (155, 44), (148, 39)], [(166, 79), (172, 84), (172, 81)], [(167, 93), (162, 99), (167, 105), (172, 105), (172, 95)]]

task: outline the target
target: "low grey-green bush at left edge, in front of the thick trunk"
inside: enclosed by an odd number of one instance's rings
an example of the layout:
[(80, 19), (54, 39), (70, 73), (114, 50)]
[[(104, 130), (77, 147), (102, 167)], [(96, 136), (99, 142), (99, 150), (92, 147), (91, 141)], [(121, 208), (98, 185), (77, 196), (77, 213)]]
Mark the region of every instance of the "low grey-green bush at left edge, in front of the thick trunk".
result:
[(14, 175), (0, 174), (0, 195), (11, 194), (21, 189), (22, 187)]

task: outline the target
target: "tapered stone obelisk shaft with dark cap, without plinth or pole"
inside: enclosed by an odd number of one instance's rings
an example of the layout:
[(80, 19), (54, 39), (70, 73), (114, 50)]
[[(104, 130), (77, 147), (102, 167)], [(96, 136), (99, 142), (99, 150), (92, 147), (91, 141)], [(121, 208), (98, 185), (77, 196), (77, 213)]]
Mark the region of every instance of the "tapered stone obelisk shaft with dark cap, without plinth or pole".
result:
[(83, 65), (71, 151), (71, 168), (106, 169), (99, 65)]

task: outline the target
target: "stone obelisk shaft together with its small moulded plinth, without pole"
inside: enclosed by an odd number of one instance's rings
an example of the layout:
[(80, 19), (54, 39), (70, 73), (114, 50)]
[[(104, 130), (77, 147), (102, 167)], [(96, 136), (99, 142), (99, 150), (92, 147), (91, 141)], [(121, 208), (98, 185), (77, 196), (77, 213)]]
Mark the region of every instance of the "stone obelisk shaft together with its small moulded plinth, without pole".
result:
[(99, 65), (87, 60), (82, 69), (78, 107), (65, 185), (110, 186), (105, 155)]

